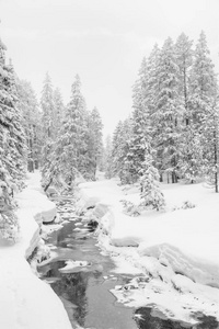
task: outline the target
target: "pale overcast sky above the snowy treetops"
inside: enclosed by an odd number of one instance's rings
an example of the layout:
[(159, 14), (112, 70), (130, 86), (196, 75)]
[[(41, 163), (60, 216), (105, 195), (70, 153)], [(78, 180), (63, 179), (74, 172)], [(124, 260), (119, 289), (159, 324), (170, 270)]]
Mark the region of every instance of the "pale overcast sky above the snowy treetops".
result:
[(46, 71), (69, 101), (76, 73), (104, 134), (131, 111), (143, 56), (184, 32), (207, 35), (219, 70), (219, 0), (0, 0), (0, 37), (21, 79), (41, 95)]

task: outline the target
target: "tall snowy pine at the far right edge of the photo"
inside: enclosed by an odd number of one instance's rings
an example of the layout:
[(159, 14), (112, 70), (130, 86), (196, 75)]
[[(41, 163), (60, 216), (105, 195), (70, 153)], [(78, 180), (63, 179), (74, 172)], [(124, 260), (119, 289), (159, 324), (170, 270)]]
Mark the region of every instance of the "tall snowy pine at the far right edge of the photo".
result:
[(193, 154), (192, 167), (196, 168), (198, 175), (203, 175), (209, 172), (210, 167), (216, 166), (216, 163), (214, 166), (209, 163), (212, 163), (211, 159), (215, 158), (216, 135), (218, 134), (217, 79), (204, 32), (200, 33), (194, 56), (189, 86), (191, 129), (198, 141), (199, 147), (196, 152), (201, 155), (201, 161), (199, 161), (200, 156), (196, 158)]

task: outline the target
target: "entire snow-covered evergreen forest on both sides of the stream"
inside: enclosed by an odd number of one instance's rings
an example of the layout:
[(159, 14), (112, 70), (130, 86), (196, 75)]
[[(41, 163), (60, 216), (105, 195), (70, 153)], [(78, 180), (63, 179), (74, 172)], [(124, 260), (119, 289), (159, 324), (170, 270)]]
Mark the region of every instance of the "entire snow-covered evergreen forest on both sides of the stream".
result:
[[(87, 109), (76, 75), (68, 104), (46, 73), (41, 99), (15, 73), (0, 41), (0, 206), (13, 220), (14, 192), (26, 170), (42, 185), (73, 191), (77, 179), (119, 177), (139, 182), (145, 204), (164, 205), (159, 182), (206, 180), (218, 192), (218, 81), (204, 32), (196, 44), (182, 33), (143, 57), (132, 87), (132, 111), (103, 141), (99, 110)], [(131, 92), (131, 90), (130, 90)], [(9, 234), (4, 229), (5, 235)], [(10, 234), (11, 235), (11, 234)]]

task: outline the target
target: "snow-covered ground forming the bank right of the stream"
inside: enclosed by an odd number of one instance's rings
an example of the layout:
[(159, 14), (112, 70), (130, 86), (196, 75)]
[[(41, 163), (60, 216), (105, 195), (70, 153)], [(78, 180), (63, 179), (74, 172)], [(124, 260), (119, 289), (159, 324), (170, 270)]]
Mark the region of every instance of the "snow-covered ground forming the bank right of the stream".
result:
[[(138, 189), (117, 183), (80, 184), (78, 206), (95, 206), (89, 216), (100, 223), (100, 245), (117, 272), (135, 274), (130, 284), (113, 291), (118, 300), (155, 304), (169, 318), (186, 322), (195, 321), (191, 316), (196, 311), (219, 319), (219, 194), (201, 183), (163, 184), (166, 209), (130, 217), (120, 200), (138, 204)], [(187, 201), (195, 207), (183, 209)]]

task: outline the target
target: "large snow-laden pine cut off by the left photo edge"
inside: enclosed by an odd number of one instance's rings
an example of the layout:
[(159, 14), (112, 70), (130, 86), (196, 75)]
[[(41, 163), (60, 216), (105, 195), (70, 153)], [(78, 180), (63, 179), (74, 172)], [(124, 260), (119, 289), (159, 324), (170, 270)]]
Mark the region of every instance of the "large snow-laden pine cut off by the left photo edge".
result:
[(19, 224), (12, 196), (15, 186), (23, 185), (26, 147), (14, 71), (5, 64), (5, 49), (0, 39), (0, 234), (15, 240)]

